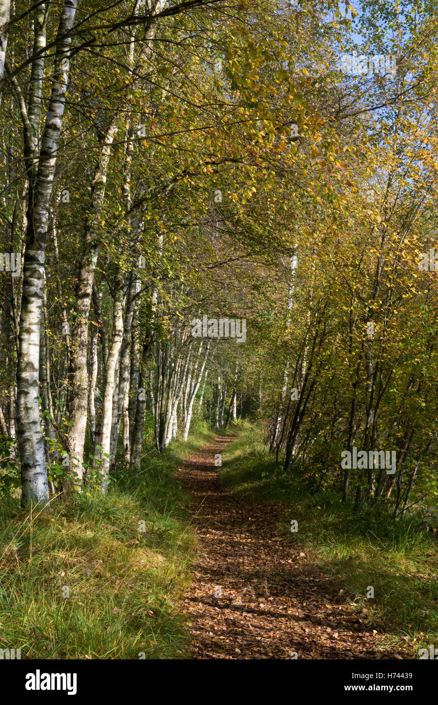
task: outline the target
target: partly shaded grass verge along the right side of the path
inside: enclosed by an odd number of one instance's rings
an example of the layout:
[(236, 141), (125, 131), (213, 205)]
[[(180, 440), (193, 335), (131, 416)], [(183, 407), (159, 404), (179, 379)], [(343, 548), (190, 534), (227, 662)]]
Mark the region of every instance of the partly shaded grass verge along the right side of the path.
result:
[[(226, 448), (221, 472), (236, 493), (290, 508), (279, 526), (285, 540), (307, 549), (334, 589), (384, 633), (382, 645), (410, 658), (418, 658), (420, 648), (438, 645), (438, 545), (428, 534), (414, 532), (418, 517), (394, 521), (354, 514), (339, 494), (310, 494), (299, 470), (289, 477), (275, 471), (261, 429), (250, 424)], [(291, 533), (292, 519), (298, 521), (297, 533)], [(374, 599), (367, 598), (369, 586)]]

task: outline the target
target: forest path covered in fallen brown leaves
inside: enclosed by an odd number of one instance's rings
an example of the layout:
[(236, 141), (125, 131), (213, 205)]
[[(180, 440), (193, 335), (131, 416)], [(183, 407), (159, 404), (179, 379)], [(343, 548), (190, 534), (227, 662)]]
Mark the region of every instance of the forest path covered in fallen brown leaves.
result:
[[(394, 658), (377, 651), (360, 613), (343, 602), (299, 546), (279, 537), (290, 508), (231, 494), (214, 455), (232, 436), (192, 453), (178, 479), (190, 505), (198, 553), (183, 597), (192, 658)], [(221, 596), (217, 588), (221, 588)]]

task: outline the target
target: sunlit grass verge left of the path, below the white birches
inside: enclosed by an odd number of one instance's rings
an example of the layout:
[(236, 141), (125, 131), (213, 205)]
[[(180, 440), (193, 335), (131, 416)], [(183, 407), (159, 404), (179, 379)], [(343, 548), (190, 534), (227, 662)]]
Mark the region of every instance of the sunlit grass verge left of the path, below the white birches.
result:
[(5, 503), (0, 648), (21, 658), (187, 658), (178, 598), (194, 539), (174, 475), (211, 438), (200, 427), (163, 455), (150, 449), (107, 496), (88, 490), (53, 502), (51, 514)]

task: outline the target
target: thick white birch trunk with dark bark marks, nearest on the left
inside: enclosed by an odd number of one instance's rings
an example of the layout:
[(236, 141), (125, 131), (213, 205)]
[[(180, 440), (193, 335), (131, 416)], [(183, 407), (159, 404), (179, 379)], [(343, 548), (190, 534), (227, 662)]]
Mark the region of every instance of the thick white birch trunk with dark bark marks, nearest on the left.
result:
[(28, 203), (17, 367), (21, 501), (25, 506), (45, 503), (49, 498), (44, 442), (39, 422), (39, 330), (49, 204), (67, 90), (71, 39), (66, 37), (66, 33), (73, 27), (76, 5), (77, 0), (65, 0), (61, 11), (49, 111), (41, 140), (35, 189)]

